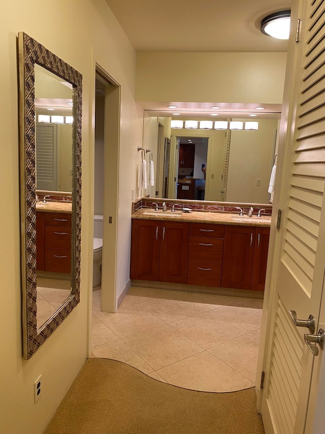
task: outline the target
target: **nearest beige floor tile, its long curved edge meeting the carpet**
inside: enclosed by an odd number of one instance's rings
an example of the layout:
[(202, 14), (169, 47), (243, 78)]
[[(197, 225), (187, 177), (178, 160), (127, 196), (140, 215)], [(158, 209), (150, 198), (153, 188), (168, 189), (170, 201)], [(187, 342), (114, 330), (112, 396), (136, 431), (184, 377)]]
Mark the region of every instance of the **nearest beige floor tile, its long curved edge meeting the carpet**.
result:
[(158, 374), (175, 386), (206, 392), (232, 392), (254, 386), (206, 351), (159, 369)]

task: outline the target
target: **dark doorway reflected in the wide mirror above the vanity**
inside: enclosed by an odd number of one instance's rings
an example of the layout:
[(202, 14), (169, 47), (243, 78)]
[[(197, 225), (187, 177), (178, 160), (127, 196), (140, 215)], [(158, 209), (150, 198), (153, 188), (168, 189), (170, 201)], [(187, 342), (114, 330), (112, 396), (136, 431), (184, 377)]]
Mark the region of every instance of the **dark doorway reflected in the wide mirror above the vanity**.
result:
[(176, 198), (204, 200), (209, 138), (181, 136), (176, 141)]

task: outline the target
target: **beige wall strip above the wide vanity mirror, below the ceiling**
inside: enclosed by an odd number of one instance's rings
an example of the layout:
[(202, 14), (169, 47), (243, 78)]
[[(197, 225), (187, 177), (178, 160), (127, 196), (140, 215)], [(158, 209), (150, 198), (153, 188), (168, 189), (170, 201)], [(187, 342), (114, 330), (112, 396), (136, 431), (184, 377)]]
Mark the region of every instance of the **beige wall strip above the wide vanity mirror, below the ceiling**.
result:
[(285, 64), (286, 53), (141, 52), (136, 101), (281, 104)]

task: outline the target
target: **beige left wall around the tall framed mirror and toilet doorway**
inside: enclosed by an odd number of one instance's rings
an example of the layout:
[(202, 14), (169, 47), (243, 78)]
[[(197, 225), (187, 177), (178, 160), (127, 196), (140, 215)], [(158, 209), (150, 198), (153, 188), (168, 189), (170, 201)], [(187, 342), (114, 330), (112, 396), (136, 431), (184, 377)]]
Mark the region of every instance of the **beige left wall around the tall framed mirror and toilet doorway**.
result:
[[(7, 3), (0, 26), (3, 59), (1, 106), (1, 185), (6, 206), (1, 214), (0, 274), (0, 420), (1, 431), (39, 434), (55, 412), (87, 355), (88, 272), (92, 267), (94, 65), (98, 62), (121, 85), (119, 248), (120, 293), (128, 281), (131, 189), (136, 182), (137, 142), (142, 141), (142, 112), (134, 103), (136, 54), (104, 0)], [(51, 17), (46, 19), (45, 17)], [(17, 34), (24, 31), (83, 74), (81, 302), (40, 350), (22, 360)], [(34, 404), (33, 383), (42, 374), (42, 397)]]

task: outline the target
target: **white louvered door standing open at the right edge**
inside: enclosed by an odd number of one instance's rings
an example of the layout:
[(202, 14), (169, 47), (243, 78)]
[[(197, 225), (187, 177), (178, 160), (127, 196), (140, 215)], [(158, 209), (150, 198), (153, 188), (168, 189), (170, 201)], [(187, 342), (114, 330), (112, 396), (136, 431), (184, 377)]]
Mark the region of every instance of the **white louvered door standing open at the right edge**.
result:
[[(302, 0), (303, 19), (293, 119), (282, 174), (282, 223), (275, 271), (272, 324), (262, 416), (266, 433), (302, 434), (310, 401), (315, 356), (298, 319), (316, 319), (325, 271), (325, 0)], [(296, 109), (295, 109), (296, 107)], [(295, 128), (291, 128), (291, 127)]]

